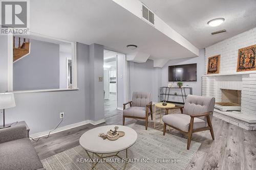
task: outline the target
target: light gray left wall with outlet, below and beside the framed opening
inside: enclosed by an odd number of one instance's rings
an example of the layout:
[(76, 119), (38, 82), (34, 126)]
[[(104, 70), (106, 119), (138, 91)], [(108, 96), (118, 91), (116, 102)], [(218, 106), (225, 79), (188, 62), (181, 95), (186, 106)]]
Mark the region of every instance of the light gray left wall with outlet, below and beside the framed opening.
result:
[[(0, 43), (2, 47), (7, 42), (2, 41), (1, 38)], [(7, 61), (7, 55), (1, 55), (0, 60), (2, 65), (3, 60)], [(1, 70), (1, 74), (7, 75), (7, 67)], [(55, 128), (60, 122), (59, 112), (65, 112), (65, 118), (60, 127), (90, 119), (94, 113), (90, 113), (90, 78), (88, 75), (90, 75), (89, 45), (77, 43), (77, 83), (79, 90), (15, 93), (16, 107), (6, 109), (6, 122), (25, 120), (31, 129), (31, 134), (33, 134)], [(3, 88), (5, 84), (7, 82), (1, 81), (0, 92), (7, 91), (7, 86)], [(2, 122), (3, 118), (0, 116), (0, 124)]]

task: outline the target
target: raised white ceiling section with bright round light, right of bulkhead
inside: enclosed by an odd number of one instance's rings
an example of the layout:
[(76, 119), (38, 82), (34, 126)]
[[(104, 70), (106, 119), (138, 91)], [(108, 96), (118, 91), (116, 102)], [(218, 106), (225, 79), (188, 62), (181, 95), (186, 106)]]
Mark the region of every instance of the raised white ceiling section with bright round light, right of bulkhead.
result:
[[(198, 48), (256, 27), (256, 0), (140, 0), (170, 27)], [(223, 17), (218, 27), (207, 22)], [(226, 29), (226, 33), (211, 32)]]

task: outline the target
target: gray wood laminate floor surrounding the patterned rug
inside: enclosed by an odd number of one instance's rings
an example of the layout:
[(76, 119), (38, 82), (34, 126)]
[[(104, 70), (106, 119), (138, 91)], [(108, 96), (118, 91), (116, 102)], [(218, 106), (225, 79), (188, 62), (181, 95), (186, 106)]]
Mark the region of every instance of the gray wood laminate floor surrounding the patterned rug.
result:
[[(175, 112), (179, 112), (176, 110)], [(125, 125), (136, 123), (144, 125), (144, 121), (125, 119)], [(121, 125), (122, 114), (106, 118), (103, 125)], [(154, 128), (152, 121), (149, 127)], [(159, 123), (158, 123), (159, 125)], [(211, 139), (209, 131), (193, 134), (192, 140), (202, 143), (187, 169), (256, 169), (256, 131), (247, 131), (219, 118), (212, 118), (215, 140)], [(67, 131), (50, 135), (48, 139), (41, 138), (33, 145), (40, 159), (68, 150), (79, 145), (80, 136), (97, 126), (84, 125)], [(162, 127), (157, 130), (162, 131)], [(167, 128), (169, 129), (169, 128)], [(167, 131), (173, 135), (186, 138), (177, 130)]]

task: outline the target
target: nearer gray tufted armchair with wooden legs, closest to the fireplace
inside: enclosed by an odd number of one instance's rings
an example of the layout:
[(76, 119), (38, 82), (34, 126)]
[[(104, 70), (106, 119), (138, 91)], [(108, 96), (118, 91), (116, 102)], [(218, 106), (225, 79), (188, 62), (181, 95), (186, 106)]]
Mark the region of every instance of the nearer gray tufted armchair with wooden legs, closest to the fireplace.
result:
[(172, 108), (166, 108), (163, 116), (163, 135), (165, 135), (166, 126), (184, 133), (188, 136), (187, 150), (189, 150), (192, 134), (195, 132), (209, 130), (214, 140), (214, 130), (211, 125), (214, 105), (215, 98), (187, 95), (184, 107), (180, 107), (181, 114), (168, 114), (168, 110)]

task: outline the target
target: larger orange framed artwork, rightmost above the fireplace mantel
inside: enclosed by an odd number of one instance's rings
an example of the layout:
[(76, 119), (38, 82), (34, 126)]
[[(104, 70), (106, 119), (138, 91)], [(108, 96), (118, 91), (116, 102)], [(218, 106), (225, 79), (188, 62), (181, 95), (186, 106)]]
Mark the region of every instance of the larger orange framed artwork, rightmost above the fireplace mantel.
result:
[(237, 72), (256, 70), (255, 53), (256, 53), (256, 44), (247, 46), (245, 48), (241, 48), (238, 50)]

